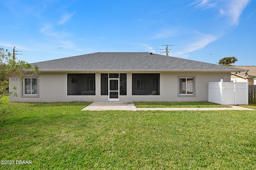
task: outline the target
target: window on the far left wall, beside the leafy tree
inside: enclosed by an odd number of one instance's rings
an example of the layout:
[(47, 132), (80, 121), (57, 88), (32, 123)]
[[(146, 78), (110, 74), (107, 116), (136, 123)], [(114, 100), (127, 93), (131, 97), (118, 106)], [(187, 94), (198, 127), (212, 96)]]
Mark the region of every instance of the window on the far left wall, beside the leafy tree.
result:
[(23, 78), (23, 95), (37, 95), (37, 78)]

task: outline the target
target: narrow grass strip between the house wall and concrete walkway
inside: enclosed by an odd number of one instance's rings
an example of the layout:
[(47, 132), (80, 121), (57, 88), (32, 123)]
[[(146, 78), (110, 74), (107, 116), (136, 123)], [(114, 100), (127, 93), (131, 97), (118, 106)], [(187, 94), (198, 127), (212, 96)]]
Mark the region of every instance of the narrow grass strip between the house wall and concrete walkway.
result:
[(134, 102), (136, 107), (230, 107), (210, 102)]

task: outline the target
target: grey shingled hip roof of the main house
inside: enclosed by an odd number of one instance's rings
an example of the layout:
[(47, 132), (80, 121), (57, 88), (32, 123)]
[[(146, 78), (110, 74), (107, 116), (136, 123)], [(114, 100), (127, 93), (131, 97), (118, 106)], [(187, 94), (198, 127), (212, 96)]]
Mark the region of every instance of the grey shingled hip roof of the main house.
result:
[(244, 71), (154, 53), (92, 53), (32, 65), (37, 65), (39, 71)]

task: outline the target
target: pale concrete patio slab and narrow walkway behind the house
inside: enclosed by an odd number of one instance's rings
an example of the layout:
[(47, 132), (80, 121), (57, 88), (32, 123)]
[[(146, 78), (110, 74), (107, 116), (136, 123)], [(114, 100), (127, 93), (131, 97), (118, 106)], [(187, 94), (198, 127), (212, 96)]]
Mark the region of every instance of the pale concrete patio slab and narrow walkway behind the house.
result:
[(136, 108), (132, 102), (93, 102), (87, 107), (84, 107), (82, 111), (102, 111), (102, 110), (254, 110), (240, 106), (231, 107), (147, 107), (147, 108)]

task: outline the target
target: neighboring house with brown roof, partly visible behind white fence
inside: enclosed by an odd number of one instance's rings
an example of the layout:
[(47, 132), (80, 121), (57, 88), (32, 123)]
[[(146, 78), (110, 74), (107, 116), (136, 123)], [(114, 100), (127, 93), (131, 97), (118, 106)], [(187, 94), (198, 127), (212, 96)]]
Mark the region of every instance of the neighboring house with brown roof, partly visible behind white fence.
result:
[(256, 66), (231, 66), (233, 68), (240, 68), (246, 70), (244, 72), (232, 72), (231, 81), (236, 80), (237, 82), (246, 82), (248, 79), (248, 84), (256, 84)]

